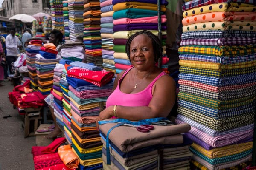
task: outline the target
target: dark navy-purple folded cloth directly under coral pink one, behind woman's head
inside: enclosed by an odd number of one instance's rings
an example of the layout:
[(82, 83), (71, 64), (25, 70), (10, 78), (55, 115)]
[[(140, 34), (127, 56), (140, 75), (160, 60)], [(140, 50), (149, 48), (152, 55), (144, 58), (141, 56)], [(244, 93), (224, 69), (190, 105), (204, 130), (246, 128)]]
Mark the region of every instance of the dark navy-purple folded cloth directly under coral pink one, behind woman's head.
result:
[[(162, 24), (162, 30), (166, 30), (166, 25)], [(130, 31), (130, 30), (158, 30), (157, 23), (132, 23), (132, 24), (119, 24), (114, 25), (113, 31)]]

